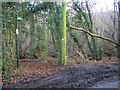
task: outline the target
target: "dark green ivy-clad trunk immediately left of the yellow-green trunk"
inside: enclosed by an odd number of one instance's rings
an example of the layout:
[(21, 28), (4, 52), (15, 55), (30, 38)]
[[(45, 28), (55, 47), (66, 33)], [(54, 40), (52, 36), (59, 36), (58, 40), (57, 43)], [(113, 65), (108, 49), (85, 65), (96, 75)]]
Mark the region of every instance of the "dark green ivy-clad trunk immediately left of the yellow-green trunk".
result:
[(49, 11), (48, 28), (52, 36), (52, 43), (55, 50), (54, 57), (58, 59), (61, 64), (61, 39), (62, 39), (62, 8), (59, 4), (54, 4), (53, 9)]

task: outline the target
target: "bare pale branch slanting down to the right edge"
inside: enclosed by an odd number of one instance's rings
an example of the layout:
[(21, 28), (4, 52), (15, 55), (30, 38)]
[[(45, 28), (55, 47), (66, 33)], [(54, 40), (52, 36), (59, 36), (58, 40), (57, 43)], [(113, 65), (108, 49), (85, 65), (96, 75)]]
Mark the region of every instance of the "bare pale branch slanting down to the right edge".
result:
[(79, 30), (79, 31), (83, 31), (83, 32), (89, 34), (92, 37), (97, 37), (97, 38), (100, 38), (100, 39), (103, 39), (103, 40), (107, 40), (107, 41), (110, 41), (113, 44), (116, 44), (117, 46), (120, 46), (120, 44), (118, 44), (117, 42), (115, 42), (115, 41), (113, 41), (113, 40), (111, 40), (109, 38), (102, 37), (100, 35), (96, 35), (96, 34), (90, 33), (89, 31), (87, 31), (87, 30), (85, 30), (83, 28), (78, 28), (78, 27), (74, 27), (74, 26), (71, 26), (71, 25), (70, 25), (70, 28), (75, 29), (75, 30)]

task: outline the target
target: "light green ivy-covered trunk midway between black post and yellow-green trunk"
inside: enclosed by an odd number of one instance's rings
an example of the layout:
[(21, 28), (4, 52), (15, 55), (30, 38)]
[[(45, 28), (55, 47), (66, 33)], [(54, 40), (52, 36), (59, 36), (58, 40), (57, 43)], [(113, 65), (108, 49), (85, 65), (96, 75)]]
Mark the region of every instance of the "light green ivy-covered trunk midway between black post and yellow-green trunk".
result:
[(44, 61), (47, 58), (48, 30), (45, 23), (45, 14), (41, 14), (39, 18), (41, 18), (41, 20), (39, 21), (40, 23), (36, 26), (37, 50), (35, 54), (38, 59)]

